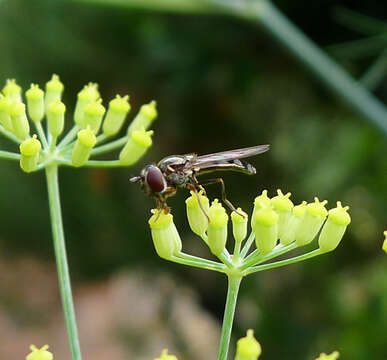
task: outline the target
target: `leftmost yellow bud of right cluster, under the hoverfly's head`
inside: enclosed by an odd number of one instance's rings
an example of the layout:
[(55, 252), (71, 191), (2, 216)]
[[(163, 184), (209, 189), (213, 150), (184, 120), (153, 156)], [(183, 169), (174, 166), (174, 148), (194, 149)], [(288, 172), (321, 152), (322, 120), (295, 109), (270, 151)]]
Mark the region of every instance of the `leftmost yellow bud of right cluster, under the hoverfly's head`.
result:
[(153, 209), (152, 214), (148, 223), (151, 228), (153, 245), (157, 255), (169, 260), (181, 251), (182, 244), (179, 232), (171, 213), (166, 214), (164, 210)]

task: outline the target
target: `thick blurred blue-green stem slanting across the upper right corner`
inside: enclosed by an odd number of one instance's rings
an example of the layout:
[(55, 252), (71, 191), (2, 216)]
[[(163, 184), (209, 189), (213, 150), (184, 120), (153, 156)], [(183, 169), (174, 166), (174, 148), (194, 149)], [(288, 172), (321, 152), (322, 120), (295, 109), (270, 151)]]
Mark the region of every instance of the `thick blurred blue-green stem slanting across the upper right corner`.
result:
[[(217, 0), (210, 0), (216, 2)], [(230, 6), (225, 2), (225, 10)], [(294, 26), (270, 1), (247, 2), (231, 14), (263, 26), (349, 106), (387, 134), (387, 108)], [(251, 5), (249, 5), (251, 4)]]

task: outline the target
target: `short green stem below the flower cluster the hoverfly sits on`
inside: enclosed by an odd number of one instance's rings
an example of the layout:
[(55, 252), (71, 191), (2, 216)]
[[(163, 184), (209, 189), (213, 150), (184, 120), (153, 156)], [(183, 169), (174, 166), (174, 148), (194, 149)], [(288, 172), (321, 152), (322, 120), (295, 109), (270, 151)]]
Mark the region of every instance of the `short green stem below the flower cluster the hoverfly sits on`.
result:
[(222, 333), (220, 335), (218, 360), (227, 360), (235, 307), (241, 281), (242, 277), (240, 275), (228, 276), (227, 300), (223, 316)]

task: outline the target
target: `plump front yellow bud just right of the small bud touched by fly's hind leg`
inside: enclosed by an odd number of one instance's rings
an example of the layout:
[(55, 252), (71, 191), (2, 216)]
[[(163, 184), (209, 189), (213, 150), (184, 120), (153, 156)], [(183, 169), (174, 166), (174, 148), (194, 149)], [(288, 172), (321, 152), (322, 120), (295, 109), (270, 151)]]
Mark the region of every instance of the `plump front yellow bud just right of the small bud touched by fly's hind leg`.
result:
[(256, 210), (253, 219), (255, 244), (261, 255), (270, 253), (277, 244), (278, 214), (271, 208)]

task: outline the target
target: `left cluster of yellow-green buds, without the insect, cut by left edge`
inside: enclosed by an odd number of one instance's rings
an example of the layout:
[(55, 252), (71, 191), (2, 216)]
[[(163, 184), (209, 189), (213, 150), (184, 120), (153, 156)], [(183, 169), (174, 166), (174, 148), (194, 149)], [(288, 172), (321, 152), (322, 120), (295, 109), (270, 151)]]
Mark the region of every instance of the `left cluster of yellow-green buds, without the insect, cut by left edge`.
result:
[[(62, 102), (63, 90), (63, 83), (53, 75), (46, 83), (45, 91), (31, 84), (23, 102), (21, 87), (15, 80), (7, 80), (0, 93), (0, 133), (19, 144), (20, 154), (1, 151), (0, 157), (19, 160), (20, 167), (27, 173), (54, 162), (74, 167), (129, 166), (152, 145), (153, 131), (146, 130), (157, 117), (154, 101), (141, 107), (125, 136), (105, 143), (121, 131), (131, 109), (129, 96), (117, 95), (106, 109), (97, 84), (85, 85), (77, 95), (73, 126), (64, 135), (67, 108)], [(44, 119), (47, 121), (46, 130), (42, 125)], [(36, 130), (33, 135), (32, 124)], [(121, 148), (117, 160), (89, 160), (117, 148)]]

